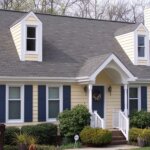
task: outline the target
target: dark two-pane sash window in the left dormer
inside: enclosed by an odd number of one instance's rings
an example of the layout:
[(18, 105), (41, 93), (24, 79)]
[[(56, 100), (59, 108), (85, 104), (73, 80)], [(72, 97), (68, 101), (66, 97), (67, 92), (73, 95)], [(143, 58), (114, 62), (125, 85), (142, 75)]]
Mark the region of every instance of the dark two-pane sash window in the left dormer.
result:
[(36, 27), (27, 26), (27, 51), (36, 51)]

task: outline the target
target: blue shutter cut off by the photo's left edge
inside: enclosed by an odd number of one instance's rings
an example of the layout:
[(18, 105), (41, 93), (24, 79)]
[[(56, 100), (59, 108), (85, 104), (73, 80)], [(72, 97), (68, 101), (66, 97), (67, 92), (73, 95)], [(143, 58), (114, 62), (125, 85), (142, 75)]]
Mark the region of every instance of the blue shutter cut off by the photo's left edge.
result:
[(5, 122), (6, 117), (6, 86), (0, 85), (0, 123)]

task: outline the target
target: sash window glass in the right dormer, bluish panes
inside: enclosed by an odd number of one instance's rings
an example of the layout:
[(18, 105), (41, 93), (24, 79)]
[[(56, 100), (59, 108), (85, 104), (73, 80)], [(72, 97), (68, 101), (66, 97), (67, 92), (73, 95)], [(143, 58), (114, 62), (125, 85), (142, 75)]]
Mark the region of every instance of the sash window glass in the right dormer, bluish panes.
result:
[(138, 36), (138, 57), (145, 57), (145, 36)]

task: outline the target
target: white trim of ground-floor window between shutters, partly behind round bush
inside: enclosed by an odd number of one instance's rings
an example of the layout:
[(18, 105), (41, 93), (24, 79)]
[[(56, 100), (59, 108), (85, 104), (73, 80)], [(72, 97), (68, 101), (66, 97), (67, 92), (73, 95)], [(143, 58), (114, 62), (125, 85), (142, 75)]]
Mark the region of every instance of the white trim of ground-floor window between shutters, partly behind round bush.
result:
[(49, 118), (48, 117), (48, 88), (49, 87), (58, 87), (59, 88), (59, 112), (63, 111), (63, 86), (62, 85), (47, 85), (46, 86), (46, 121), (47, 122), (55, 122), (57, 118)]

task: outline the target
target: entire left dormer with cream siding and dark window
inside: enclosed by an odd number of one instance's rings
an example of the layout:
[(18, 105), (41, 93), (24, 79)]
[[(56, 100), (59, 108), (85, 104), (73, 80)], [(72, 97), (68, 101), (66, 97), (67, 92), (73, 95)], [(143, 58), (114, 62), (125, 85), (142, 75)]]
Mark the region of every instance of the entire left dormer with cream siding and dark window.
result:
[(10, 28), (21, 61), (42, 61), (42, 22), (30, 12)]

